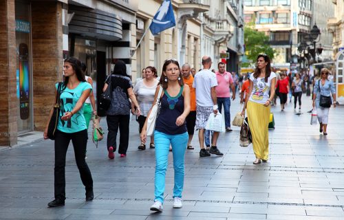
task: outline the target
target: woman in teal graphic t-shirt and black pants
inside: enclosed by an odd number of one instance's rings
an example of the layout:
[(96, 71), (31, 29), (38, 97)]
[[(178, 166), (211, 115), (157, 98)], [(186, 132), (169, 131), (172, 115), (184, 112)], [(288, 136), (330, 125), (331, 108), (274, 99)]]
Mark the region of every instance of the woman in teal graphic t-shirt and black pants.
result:
[[(81, 70), (81, 63), (77, 58), (70, 57), (65, 60), (63, 72), (65, 80), (60, 95), (60, 120), (55, 133), (55, 168), (54, 168), (54, 201), (47, 205), (50, 207), (65, 205), (65, 160), (69, 142), (72, 140), (76, 165), (81, 181), (86, 190), (86, 201), (94, 198), (93, 180), (91, 171), (85, 162), (87, 145), (87, 125), (83, 115), (83, 104), (92, 86), (85, 81)], [(58, 83), (56, 83), (56, 88)], [(52, 111), (50, 113), (50, 118)], [(49, 124), (47, 122), (47, 126)], [(47, 139), (47, 126), (45, 126), (44, 139)]]

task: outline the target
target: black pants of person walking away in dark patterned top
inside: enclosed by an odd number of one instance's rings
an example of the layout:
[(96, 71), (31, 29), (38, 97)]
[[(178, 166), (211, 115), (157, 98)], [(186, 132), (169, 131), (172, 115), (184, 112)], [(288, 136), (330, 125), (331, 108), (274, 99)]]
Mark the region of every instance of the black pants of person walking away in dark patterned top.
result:
[(120, 144), (118, 146), (118, 153), (127, 154), (129, 144), (129, 122), (130, 115), (107, 115), (107, 150), (112, 146), (116, 151), (116, 137), (118, 127), (120, 128)]

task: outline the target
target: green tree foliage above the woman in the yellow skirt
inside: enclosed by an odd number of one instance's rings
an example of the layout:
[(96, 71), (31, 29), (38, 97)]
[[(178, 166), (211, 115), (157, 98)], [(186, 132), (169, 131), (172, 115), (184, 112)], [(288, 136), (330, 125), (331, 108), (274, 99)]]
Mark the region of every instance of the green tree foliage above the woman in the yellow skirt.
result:
[(245, 54), (249, 60), (256, 61), (259, 54), (266, 54), (272, 60), (275, 50), (268, 44), (269, 37), (264, 32), (254, 30), (251, 25), (244, 28)]

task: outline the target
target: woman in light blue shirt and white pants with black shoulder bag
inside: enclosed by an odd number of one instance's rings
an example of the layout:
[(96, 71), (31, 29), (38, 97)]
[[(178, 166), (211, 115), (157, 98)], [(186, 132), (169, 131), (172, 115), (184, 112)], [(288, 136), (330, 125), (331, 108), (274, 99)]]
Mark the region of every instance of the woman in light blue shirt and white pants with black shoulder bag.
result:
[[(326, 68), (320, 71), (321, 78), (314, 83), (313, 91), (313, 108), (316, 107), (316, 113), (320, 123), (319, 131), (323, 132), (323, 135), (327, 135), (327, 124), (328, 124), (328, 112), (330, 110), (333, 98), (333, 107), (336, 107), (336, 89), (332, 80), (328, 80), (327, 76), (330, 71)], [(323, 102), (323, 100), (325, 100)], [(327, 102), (326, 102), (327, 100)]]

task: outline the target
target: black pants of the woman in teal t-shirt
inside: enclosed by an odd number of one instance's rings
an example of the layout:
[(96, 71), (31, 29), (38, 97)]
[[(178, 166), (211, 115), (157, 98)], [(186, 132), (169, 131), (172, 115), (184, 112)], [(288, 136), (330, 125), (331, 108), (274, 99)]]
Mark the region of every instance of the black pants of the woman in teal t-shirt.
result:
[(87, 130), (76, 133), (64, 133), (56, 131), (55, 134), (55, 168), (54, 168), (54, 187), (55, 199), (65, 200), (65, 158), (70, 140), (72, 140), (76, 166), (80, 173), (81, 181), (86, 190), (93, 188), (93, 179), (86, 161)]

